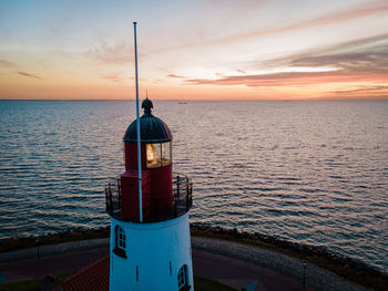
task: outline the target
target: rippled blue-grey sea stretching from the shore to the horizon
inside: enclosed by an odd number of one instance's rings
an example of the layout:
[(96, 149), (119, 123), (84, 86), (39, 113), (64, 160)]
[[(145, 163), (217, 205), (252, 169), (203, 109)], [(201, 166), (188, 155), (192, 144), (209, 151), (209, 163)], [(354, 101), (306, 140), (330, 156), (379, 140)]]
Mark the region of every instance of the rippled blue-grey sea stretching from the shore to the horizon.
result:
[[(0, 239), (109, 226), (134, 101), (0, 101)], [(388, 101), (154, 101), (191, 221), (388, 273)]]

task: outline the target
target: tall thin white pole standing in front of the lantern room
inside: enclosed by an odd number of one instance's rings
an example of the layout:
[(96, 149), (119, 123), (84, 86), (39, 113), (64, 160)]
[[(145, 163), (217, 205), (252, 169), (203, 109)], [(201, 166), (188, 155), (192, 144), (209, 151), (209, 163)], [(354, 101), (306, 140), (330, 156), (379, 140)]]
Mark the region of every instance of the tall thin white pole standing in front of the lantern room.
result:
[(140, 117), (139, 117), (139, 74), (137, 74), (137, 42), (136, 42), (136, 24), (133, 22), (135, 39), (135, 82), (136, 82), (136, 132), (137, 132), (137, 169), (139, 169), (139, 221), (143, 222), (143, 194), (142, 194), (142, 158), (141, 158), (141, 141), (140, 141)]

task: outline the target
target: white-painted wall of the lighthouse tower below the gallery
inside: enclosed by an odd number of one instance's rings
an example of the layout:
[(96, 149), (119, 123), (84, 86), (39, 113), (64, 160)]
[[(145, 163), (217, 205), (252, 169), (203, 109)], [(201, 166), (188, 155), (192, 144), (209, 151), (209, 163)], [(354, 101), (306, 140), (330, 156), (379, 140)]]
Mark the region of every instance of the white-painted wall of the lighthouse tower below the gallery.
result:
[[(111, 291), (177, 291), (177, 273), (184, 264), (194, 290), (188, 212), (162, 222), (134, 224), (111, 218)], [(113, 252), (118, 225), (125, 231), (126, 258)]]

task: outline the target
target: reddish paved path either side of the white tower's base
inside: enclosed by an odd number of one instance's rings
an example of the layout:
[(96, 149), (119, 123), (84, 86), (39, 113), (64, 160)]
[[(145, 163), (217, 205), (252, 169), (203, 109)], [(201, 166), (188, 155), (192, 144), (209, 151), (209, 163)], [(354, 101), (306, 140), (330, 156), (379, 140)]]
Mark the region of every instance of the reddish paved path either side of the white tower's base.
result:
[[(42, 278), (49, 272), (59, 276), (81, 270), (108, 253), (109, 249), (103, 247), (0, 263), (0, 273), (4, 274), (6, 282)], [(258, 281), (256, 290), (261, 291), (305, 290), (299, 283), (269, 269), (204, 250), (193, 249), (193, 269), (196, 276), (222, 282), (237, 290), (254, 280)]]

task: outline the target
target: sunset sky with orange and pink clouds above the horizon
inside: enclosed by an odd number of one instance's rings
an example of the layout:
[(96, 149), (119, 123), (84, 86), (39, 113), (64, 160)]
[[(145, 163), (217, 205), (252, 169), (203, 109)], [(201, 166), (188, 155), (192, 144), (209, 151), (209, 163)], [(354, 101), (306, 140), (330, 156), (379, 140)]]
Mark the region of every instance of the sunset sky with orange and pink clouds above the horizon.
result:
[(387, 0), (0, 0), (0, 98), (388, 98)]

